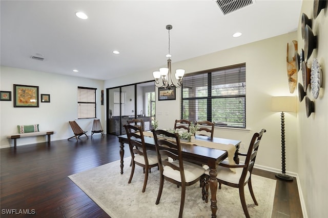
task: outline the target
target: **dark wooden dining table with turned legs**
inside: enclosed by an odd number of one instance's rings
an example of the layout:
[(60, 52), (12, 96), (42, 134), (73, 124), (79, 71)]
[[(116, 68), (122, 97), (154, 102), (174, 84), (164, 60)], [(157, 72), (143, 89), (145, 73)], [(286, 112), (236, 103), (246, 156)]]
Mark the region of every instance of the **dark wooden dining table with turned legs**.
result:
[[(148, 149), (156, 150), (155, 149), (155, 140), (153, 137), (147, 137), (145, 138), (145, 144)], [(217, 211), (217, 199), (216, 199), (216, 191), (217, 191), (217, 166), (220, 162), (222, 162), (224, 159), (228, 157), (228, 152), (219, 150), (219, 149), (213, 149), (213, 148), (207, 148), (202, 146), (197, 146), (197, 141), (211, 141), (214, 143), (219, 144), (233, 144), (233, 146), (236, 147), (236, 152), (234, 154), (234, 160), (236, 163), (239, 163), (239, 158), (237, 155), (240, 142), (239, 140), (233, 140), (233, 139), (225, 139), (225, 138), (216, 138), (214, 137), (212, 140), (207, 136), (199, 136), (196, 135), (196, 140), (193, 142), (193, 144), (187, 144), (187, 143), (181, 143), (181, 150), (182, 150), (182, 156), (184, 160), (189, 160), (194, 163), (199, 164), (206, 164), (210, 168), (210, 190), (211, 190), (211, 210), (212, 210), (212, 218), (216, 217), (216, 211)], [(120, 173), (123, 174), (123, 167), (124, 167), (124, 144), (129, 143), (127, 135), (119, 135), (118, 141), (120, 143)]]

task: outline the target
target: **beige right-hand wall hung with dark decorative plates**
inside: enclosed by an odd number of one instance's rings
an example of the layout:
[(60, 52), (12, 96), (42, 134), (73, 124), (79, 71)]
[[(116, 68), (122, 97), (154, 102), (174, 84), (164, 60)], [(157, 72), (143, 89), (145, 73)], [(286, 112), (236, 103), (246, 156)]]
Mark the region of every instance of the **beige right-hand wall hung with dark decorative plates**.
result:
[[(319, 98), (314, 99), (311, 89), (308, 88), (308, 97), (315, 102), (315, 113), (309, 118), (305, 115), (305, 101), (299, 103), (298, 112), (298, 174), (303, 192), (304, 202), (309, 217), (326, 217), (328, 196), (328, 96), (325, 91), (328, 82), (328, 12), (327, 6), (316, 19), (313, 18), (313, 1), (303, 1), (301, 13), (312, 19), (313, 33), (318, 36), (318, 49), (315, 49), (308, 65), (311, 66), (313, 58), (318, 58), (322, 67), (323, 84)], [(304, 48), (301, 37), (301, 15), (297, 40), (299, 49)], [(302, 83), (301, 71), (298, 74)]]

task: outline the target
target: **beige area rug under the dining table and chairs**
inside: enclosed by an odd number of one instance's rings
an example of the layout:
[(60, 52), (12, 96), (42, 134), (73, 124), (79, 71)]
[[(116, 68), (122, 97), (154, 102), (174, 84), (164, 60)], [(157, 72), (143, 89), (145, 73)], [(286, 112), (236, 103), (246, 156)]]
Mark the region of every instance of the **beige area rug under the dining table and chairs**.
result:
[[(71, 175), (69, 178), (112, 218), (177, 217), (181, 189), (165, 181), (160, 202), (156, 205), (159, 188), (157, 168), (152, 168), (146, 191), (142, 193), (144, 184), (142, 168), (136, 165), (132, 182), (128, 184), (131, 172), (130, 157), (125, 158), (124, 163), (123, 175), (120, 174), (118, 160)], [(253, 175), (252, 184), (259, 205), (254, 204), (248, 186), (245, 186), (245, 197), (251, 217), (271, 217), (276, 181)], [(245, 217), (239, 200), (238, 188), (222, 185), (222, 189), (217, 191), (217, 200), (217, 217)], [(186, 189), (183, 217), (211, 217), (210, 202), (202, 201), (199, 183)]]

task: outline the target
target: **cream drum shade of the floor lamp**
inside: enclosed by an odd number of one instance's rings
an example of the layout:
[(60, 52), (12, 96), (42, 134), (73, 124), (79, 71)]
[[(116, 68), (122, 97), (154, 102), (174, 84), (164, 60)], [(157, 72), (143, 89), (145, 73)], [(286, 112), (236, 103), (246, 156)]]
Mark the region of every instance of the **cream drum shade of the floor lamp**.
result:
[(274, 96), (271, 99), (272, 111), (296, 112), (295, 96)]

